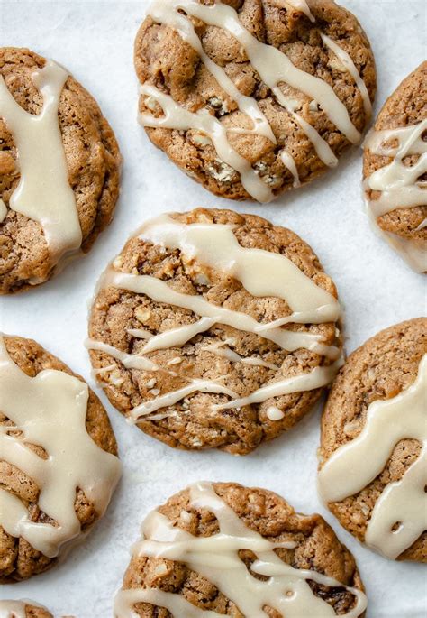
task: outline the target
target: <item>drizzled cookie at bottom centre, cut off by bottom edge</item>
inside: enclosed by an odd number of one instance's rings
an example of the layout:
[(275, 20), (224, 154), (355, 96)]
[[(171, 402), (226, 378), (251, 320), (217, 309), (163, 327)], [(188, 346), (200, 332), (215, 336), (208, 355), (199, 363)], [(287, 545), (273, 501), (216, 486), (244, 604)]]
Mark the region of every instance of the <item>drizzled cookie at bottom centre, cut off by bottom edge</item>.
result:
[(320, 515), (296, 513), (265, 489), (196, 483), (143, 522), (114, 616), (356, 618), (363, 590)]

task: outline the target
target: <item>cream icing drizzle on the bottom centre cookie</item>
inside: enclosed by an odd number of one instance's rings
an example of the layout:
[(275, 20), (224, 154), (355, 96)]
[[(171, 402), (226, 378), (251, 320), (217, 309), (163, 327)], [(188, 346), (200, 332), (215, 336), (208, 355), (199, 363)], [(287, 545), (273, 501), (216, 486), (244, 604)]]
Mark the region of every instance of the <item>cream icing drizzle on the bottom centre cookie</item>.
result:
[[(331, 605), (315, 596), (307, 584), (313, 580), (323, 586), (346, 588), (332, 577), (316, 571), (295, 569), (281, 560), (274, 549), (295, 548), (292, 541), (273, 543), (255, 530), (250, 530), (238, 515), (218, 496), (212, 484), (190, 486), (190, 506), (212, 512), (218, 520), (219, 532), (210, 537), (195, 537), (174, 527), (165, 515), (151, 512), (142, 524), (142, 538), (133, 548), (134, 557), (164, 558), (184, 562), (188, 567), (216, 586), (237, 605), (245, 618), (267, 616), (264, 607), (275, 609), (286, 618), (335, 616)], [(240, 549), (250, 549), (257, 557), (251, 565), (255, 573), (266, 574), (260, 581), (238, 556)], [(344, 614), (356, 618), (367, 606), (366, 596), (355, 588), (346, 588), (355, 596), (355, 606)], [(219, 613), (201, 610), (181, 595), (156, 588), (120, 590), (114, 600), (115, 618), (132, 618), (137, 603), (158, 604), (173, 616), (217, 618)]]

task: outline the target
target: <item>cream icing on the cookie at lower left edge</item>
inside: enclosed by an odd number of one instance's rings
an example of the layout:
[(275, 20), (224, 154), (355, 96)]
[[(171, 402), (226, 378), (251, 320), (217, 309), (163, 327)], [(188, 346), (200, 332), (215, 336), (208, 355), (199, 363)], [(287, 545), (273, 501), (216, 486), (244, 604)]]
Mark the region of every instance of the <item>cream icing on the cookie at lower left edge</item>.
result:
[[(2, 458), (32, 478), (41, 511), (58, 524), (31, 521), (21, 500), (0, 488), (0, 525), (49, 558), (80, 533), (76, 488), (102, 516), (120, 477), (117, 457), (97, 447), (86, 431), (87, 399), (86, 383), (72, 375), (51, 369), (33, 378), (24, 374), (0, 337), (0, 410), (23, 432), (16, 437), (9, 435), (10, 426), (0, 427)], [(27, 444), (43, 447), (49, 458)]]

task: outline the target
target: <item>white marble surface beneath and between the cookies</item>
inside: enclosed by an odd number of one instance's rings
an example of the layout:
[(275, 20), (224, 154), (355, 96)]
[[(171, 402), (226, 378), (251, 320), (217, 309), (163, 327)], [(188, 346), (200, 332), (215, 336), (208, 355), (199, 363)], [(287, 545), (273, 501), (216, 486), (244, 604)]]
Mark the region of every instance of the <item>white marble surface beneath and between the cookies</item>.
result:
[[(359, 16), (378, 71), (376, 110), (425, 54), (425, 0), (342, 0)], [(369, 229), (360, 198), (361, 153), (336, 171), (274, 204), (214, 198), (168, 162), (137, 125), (134, 35), (147, 2), (0, 0), (0, 45), (27, 46), (66, 66), (96, 97), (120, 142), (123, 189), (114, 223), (91, 254), (41, 288), (0, 300), (0, 328), (33, 337), (90, 379), (87, 302), (98, 274), (144, 218), (195, 206), (235, 208), (285, 225), (313, 246), (340, 291), (350, 352), (378, 330), (425, 313), (422, 276)], [(97, 390), (99, 394), (99, 390)], [(129, 548), (150, 509), (198, 479), (236, 481), (282, 494), (300, 512), (322, 512), (356, 556), (369, 598), (369, 618), (425, 615), (421, 565), (394, 563), (359, 545), (325, 511), (315, 490), (319, 410), (299, 427), (248, 457), (174, 451), (109, 411), (123, 460), (123, 481), (104, 520), (67, 562), (28, 583), (0, 588), (0, 598), (28, 597), (57, 615), (108, 618)]]

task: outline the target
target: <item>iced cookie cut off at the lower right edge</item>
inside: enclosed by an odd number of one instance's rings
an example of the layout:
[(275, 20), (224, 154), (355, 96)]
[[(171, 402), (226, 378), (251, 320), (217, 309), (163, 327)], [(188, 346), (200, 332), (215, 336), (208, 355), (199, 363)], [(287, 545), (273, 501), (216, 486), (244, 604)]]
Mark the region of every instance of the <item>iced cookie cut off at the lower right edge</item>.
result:
[(323, 412), (319, 488), (341, 525), (387, 558), (427, 562), (427, 319), (350, 355)]

